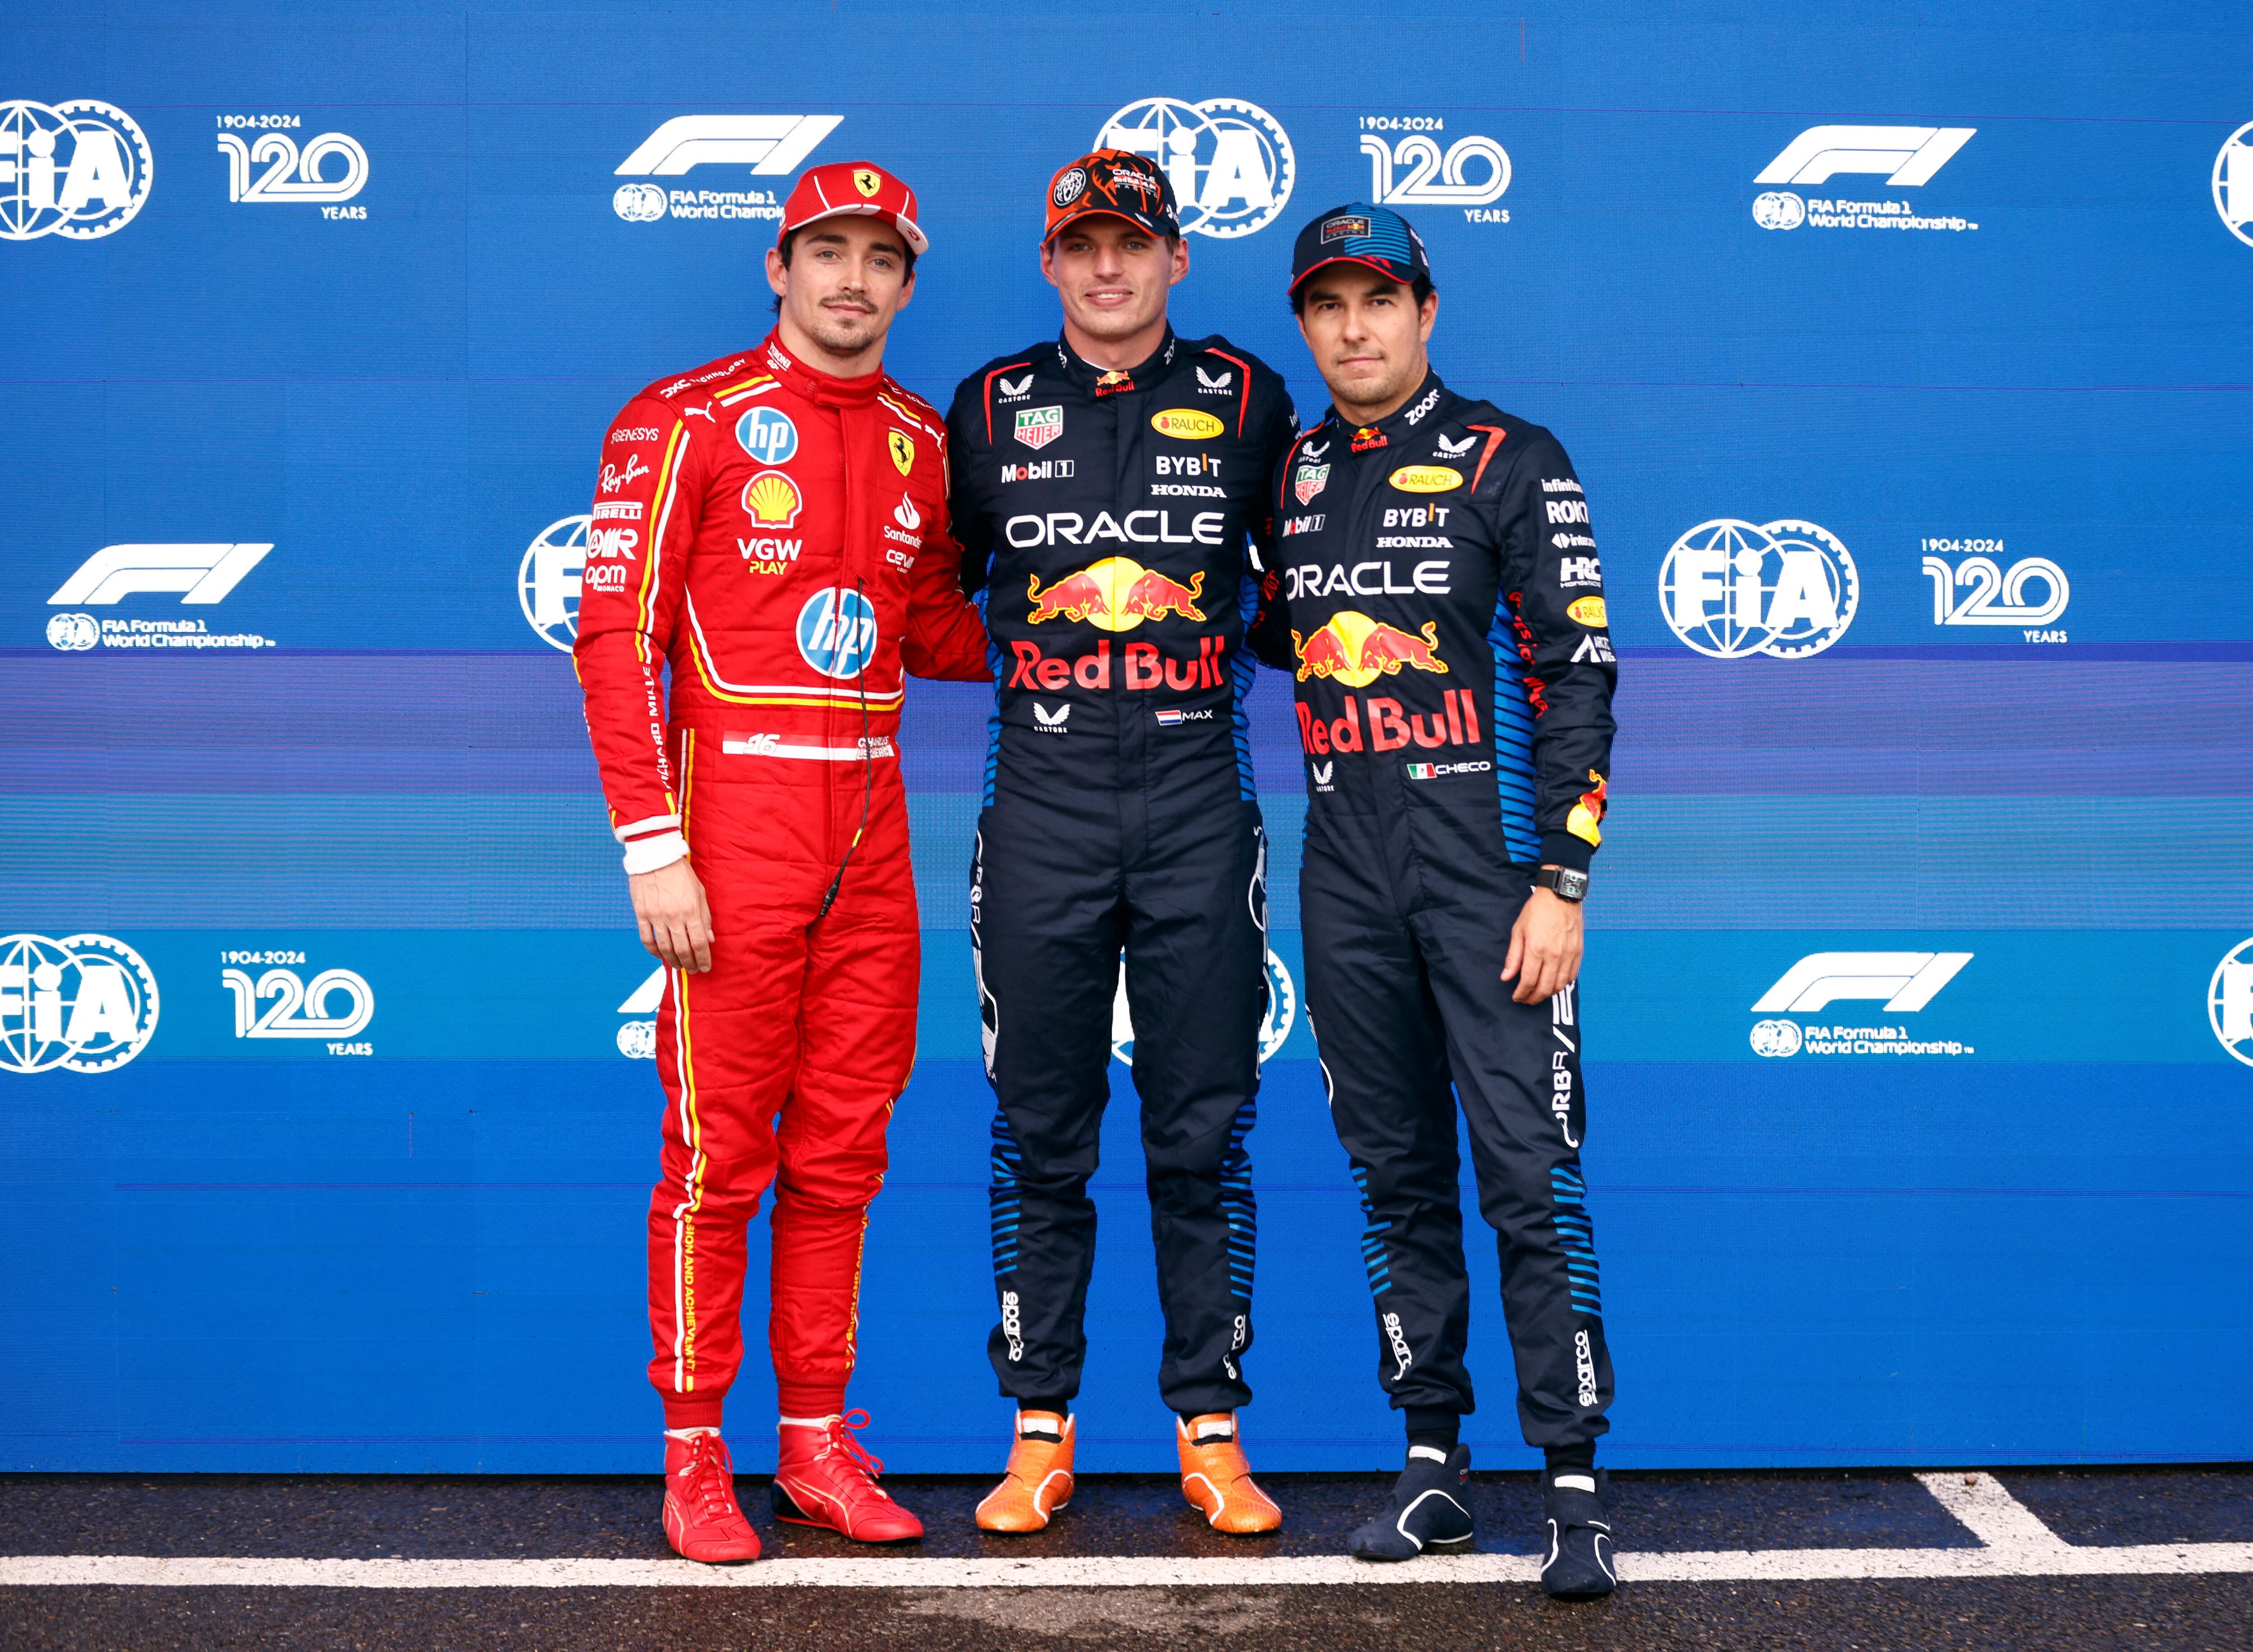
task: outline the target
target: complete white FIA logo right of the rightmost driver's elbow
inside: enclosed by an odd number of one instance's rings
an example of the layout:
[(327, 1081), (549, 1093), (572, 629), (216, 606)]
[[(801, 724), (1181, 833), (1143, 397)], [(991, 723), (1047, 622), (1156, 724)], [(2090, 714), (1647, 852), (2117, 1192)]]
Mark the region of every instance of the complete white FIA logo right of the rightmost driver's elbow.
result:
[(1805, 659), (1845, 635), (1861, 605), (1854, 558), (1814, 522), (1699, 522), (1658, 567), (1658, 605), (1712, 659)]

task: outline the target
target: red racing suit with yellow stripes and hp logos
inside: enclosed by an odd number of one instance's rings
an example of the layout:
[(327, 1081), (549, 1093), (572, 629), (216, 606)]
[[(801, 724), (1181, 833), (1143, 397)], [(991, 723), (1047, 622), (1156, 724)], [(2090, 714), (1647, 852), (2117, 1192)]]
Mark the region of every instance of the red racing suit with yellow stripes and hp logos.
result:
[(915, 1060), (906, 673), (991, 675), (958, 569), (946, 423), (883, 374), (831, 378), (768, 335), (651, 385), (604, 439), (575, 648), (588, 734), (626, 869), (687, 853), (714, 934), (712, 968), (669, 970), (658, 1008), (667, 1427), (721, 1420), (768, 1182), (782, 1411), (843, 1404), (861, 1233)]

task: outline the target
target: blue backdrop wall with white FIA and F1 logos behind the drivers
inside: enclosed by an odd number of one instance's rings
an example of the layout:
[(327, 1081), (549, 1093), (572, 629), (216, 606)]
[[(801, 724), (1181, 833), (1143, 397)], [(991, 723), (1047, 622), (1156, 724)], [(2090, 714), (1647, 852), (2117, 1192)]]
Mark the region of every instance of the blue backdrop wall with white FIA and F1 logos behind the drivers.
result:
[[(764, 331), (825, 160), (924, 194), (890, 365), (944, 405), (1052, 331), (1106, 131), (1194, 196), (1181, 324), (1309, 416), (1289, 239), (1386, 191), (1440, 369), (1588, 484), (1609, 1461), (2253, 1456), (2253, 27), (1570, 11), (11, 7), (0, 1467), (656, 1463), (653, 963), (561, 653), (599, 434)], [(917, 1470), (1005, 1418), (982, 716), (910, 693), (854, 1398)], [(1253, 718), (1298, 977), (1286, 684)], [(1163, 1467), (1113, 1074), (1084, 1463)], [(1253, 1148), (1259, 1463), (1388, 1461), (1302, 1020)], [(1473, 1269), (1469, 1438), (1530, 1463)]]

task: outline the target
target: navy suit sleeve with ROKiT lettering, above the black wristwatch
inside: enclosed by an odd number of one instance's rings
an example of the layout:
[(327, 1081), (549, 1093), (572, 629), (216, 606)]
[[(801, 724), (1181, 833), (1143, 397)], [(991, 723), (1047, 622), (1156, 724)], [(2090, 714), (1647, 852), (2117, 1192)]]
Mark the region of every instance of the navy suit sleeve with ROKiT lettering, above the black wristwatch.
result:
[(1516, 455), (1496, 455), (1510, 466), (1491, 506), (1503, 547), (1496, 644), (1516, 648), (1534, 711), (1541, 862), (1586, 871), (1602, 842), (1611, 691), (1620, 668), (1588, 497), (1573, 461), (1546, 430), (1514, 434), (1523, 446)]

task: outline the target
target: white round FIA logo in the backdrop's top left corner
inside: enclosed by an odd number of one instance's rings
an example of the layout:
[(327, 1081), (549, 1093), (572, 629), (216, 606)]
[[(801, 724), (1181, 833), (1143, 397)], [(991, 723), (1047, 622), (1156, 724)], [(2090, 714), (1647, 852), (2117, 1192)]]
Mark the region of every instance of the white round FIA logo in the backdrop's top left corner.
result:
[(113, 104), (0, 104), (0, 241), (117, 234), (151, 176), (149, 135)]

